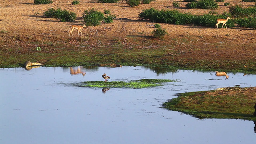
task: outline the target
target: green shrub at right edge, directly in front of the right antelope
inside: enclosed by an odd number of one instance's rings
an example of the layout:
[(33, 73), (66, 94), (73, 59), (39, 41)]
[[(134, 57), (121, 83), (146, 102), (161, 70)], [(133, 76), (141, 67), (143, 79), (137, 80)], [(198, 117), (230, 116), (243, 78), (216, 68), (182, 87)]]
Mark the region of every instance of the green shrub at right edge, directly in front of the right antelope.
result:
[(237, 18), (235, 23), (240, 27), (256, 28), (256, 17)]

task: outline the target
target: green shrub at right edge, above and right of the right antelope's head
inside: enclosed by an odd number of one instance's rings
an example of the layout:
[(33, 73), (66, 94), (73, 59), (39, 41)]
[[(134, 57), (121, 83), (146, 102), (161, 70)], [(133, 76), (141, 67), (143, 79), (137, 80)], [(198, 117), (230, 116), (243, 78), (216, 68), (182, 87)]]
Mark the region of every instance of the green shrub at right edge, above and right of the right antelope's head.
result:
[(243, 8), (242, 6), (236, 5), (232, 6), (229, 12), (233, 17), (256, 16), (256, 7)]

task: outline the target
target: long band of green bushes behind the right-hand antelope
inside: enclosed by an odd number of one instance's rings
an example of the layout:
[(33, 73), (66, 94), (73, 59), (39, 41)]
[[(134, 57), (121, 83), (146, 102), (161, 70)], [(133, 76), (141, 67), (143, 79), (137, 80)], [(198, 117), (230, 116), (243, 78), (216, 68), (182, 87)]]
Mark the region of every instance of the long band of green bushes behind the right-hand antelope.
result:
[(233, 16), (236, 18), (232, 18), (226, 23), (228, 27), (234, 27), (235, 24), (237, 24), (240, 27), (256, 28), (256, 7), (242, 8), (241, 6), (234, 6), (231, 7), (229, 11), (230, 13), (224, 12), (223, 14), (217, 15), (193, 15), (190, 13), (182, 13), (178, 10), (159, 11), (155, 8), (150, 8), (139, 13), (139, 19), (166, 24), (195, 24), (214, 27), (217, 19), (226, 19), (228, 16)]

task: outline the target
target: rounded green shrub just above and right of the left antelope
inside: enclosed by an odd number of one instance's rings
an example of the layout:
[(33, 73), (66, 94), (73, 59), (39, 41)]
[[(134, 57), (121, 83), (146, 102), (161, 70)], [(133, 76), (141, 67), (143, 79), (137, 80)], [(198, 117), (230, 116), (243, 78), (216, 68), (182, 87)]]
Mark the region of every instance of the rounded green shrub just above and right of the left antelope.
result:
[(95, 9), (85, 10), (83, 12), (83, 19), (86, 26), (90, 25), (99, 25), (100, 21), (104, 19), (104, 14), (102, 12), (98, 12)]

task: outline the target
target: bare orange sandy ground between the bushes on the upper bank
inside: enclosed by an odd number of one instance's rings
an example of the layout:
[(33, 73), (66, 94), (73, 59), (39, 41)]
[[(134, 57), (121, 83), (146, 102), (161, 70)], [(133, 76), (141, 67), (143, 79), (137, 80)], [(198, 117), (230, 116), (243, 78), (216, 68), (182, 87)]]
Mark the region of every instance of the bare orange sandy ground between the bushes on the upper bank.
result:
[[(231, 5), (242, 4), (244, 7), (254, 5), (253, 2), (240, 2), (241, 0), (225, 0)], [(0, 2), (0, 30), (8, 32), (24, 33), (28, 35), (61, 35), (68, 36), (69, 26), (71, 24), (82, 24), (82, 12), (95, 8), (98, 11), (110, 10), (112, 14), (117, 15), (117, 20), (112, 24), (101, 24), (100, 26), (90, 27), (89, 29), (101, 29), (106, 33), (150, 34), (153, 30), (153, 24), (148, 21), (137, 21), (138, 14), (144, 9), (151, 7), (161, 9), (174, 9), (173, 0), (156, 0), (150, 4), (140, 4), (131, 8), (127, 3), (98, 3), (97, 0), (80, 0), (79, 5), (72, 5), (72, 0), (53, 0), (52, 4), (35, 5), (33, 0), (1, 0)], [(185, 9), (186, 2), (178, 1), (182, 8), (177, 9), (182, 12), (191, 12), (193, 14), (208, 13), (212, 10), (203, 9)], [(219, 3), (219, 9), (216, 12), (228, 12), (229, 7), (224, 7), (223, 2)], [(45, 18), (42, 13), (48, 8), (66, 9), (77, 14), (75, 23), (61, 23), (57, 19)], [(192, 25), (174, 25), (161, 24), (166, 28), (169, 34), (174, 35), (194, 35), (194, 36), (225, 36), (229, 35), (231, 40), (242, 43), (256, 42), (256, 31), (246, 28), (232, 28), (228, 30), (215, 30), (212, 27), (193, 27)]]

